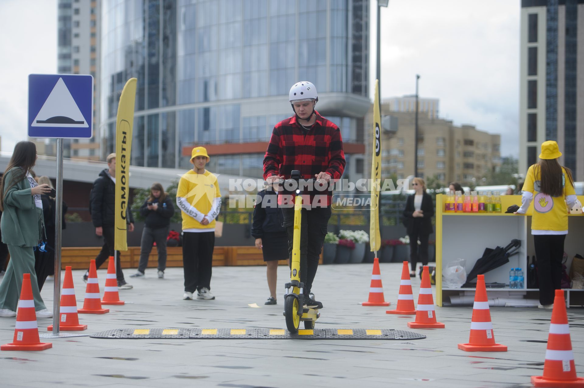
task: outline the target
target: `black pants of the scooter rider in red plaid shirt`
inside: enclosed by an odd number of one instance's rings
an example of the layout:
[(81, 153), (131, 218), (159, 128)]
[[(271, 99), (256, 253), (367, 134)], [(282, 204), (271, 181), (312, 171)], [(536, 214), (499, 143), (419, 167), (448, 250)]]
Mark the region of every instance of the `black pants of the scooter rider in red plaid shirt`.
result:
[[(282, 208), (284, 228), (288, 233), (288, 258), (292, 264), (294, 240), (294, 208)], [(326, 235), (331, 207), (302, 209), (300, 226), (300, 281), (304, 283), (304, 293), (308, 294), (317, 274), (318, 260)]]

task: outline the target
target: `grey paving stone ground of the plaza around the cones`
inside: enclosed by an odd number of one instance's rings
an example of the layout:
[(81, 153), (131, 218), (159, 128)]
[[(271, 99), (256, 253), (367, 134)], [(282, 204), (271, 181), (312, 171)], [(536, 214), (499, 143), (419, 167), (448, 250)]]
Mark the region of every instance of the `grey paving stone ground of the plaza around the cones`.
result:
[[(371, 264), (321, 265), (314, 292), (324, 303), (317, 328), (411, 330), (412, 316), (385, 314), (388, 307), (363, 307)], [(79, 314), (88, 324), (82, 334), (116, 328), (285, 328), (280, 299), (265, 306), (269, 295), (265, 267), (213, 268), (215, 300), (182, 300), (182, 268), (155, 269), (133, 279), (134, 289), (120, 291), (124, 306), (109, 306), (103, 315)], [(74, 271), (78, 307), (82, 306), (83, 271)], [(105, 270), (98, 271), (103, 292)], [(401, 264), (381, 264), (385, 299), (397, 303)], [(279, 292), (289, 276), (280, 266)], [(417, 302), (419, 279), (412, 287)], [(53, 282), (42, 292), (49, 309)], [(435, 293), (434, 293), (435, 299)], [(250, 307), (256, 303), (259, 308)], [(425, 340), (105, 340), (53, 338), (40, 352), (0, 352), (3, 387), (144, 386), (144, 387), (529, 387), (541, 375), (550, 310), (492, 307), (496, 341), (507, 352), (468, 353), (472, 307), (436, 307), (444, 329), (411, 330)], [(584, 376), (584, 309), (571, 308), (568, 319), (576, 370)], [(50, 319), (39, 319), (46, 330)], [(15, 319), (0, 318), (0, 343), (12, 342)]]

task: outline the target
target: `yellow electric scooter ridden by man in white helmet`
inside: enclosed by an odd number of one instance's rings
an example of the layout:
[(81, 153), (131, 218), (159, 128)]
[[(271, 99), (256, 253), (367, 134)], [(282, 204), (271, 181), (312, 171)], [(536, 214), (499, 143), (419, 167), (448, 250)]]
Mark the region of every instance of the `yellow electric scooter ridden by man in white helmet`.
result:
[[(314, 179), (311, 179), (314, 180)], [(284, 184), (284, 190), (290, 185), (296, 187), (294, 197), (294, 239), (292, 247), (292, 260), (290, 265), (290, 282), (286, 283), (286, 293), (284, 294), (284, 316), (286, 317), (286, 327), (290, 333), (298, 333), (300, 321), (304, 321), (304, 328), (314, 329), (314, 324), (321, 316), (318, 309), (306, 307), (304, 302), (304, 283), (300, 281), (300, 227), (302, 225), (302, 191), (300, 187), (300, 171), (293, 170), (290, 179), (277, 181)], [(311, 295), (312, 298), (314, 296)]]

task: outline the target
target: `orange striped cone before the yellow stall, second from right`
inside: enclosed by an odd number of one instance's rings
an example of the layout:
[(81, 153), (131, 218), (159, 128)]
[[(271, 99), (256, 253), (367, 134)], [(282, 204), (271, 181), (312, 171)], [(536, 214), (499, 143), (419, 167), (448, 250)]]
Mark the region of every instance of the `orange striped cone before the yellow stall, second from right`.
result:
[(477, 291), (472, 306), (471, 335), (468, 344), (458, 344), (465, 352), (506, 352), (505, 345), (495, 343), (495, 333), (491, 323), (489, 299), (486, 298), (485, 275), (477, 275)]

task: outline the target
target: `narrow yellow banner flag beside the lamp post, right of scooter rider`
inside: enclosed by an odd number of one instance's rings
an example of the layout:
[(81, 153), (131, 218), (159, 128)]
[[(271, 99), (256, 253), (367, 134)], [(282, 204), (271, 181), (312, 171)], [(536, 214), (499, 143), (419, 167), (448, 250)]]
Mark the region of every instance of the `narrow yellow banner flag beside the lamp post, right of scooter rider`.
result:
[(371, 206), (369, 225), (369, 245), (371, 251), (381, 249), (379, 233), (379, 190), (381, 183), (381, 109), (379, 106), (379, 80), (375, 81), (375, 100), (373, 102), (373, 152), (371, 155)]

